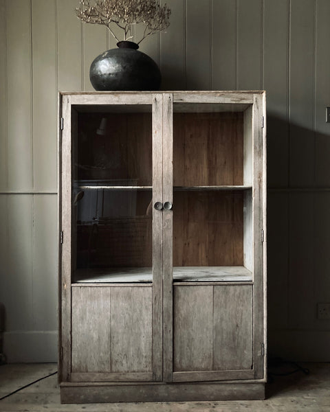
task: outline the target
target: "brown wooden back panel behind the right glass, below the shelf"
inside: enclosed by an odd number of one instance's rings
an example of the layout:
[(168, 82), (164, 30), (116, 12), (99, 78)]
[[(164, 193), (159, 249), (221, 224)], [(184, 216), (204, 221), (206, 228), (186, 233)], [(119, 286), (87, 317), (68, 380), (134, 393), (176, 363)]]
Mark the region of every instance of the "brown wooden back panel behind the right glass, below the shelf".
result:
[(243, 266), (243, 192), (174, 192), (173, 266)]

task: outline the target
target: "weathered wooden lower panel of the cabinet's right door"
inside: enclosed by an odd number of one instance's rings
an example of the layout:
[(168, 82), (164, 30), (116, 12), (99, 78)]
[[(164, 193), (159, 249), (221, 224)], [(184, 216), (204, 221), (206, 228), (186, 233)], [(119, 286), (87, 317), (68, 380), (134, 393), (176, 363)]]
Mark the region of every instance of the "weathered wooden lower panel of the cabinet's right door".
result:
[(253, 378), (252, 286), (174, 286), (173, 381)]

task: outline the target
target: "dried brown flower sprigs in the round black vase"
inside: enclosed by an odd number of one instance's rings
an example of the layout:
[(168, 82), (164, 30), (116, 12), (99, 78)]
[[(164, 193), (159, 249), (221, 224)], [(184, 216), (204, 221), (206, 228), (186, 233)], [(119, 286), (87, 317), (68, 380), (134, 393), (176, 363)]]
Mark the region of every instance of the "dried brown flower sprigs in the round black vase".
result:
[(164, 31), (169, 23), (170, 9), (166, 4), (159, 5), (157, 0), (96, 0), (91, 5), (89, 0), (80, 0), (76, 8), (78, 18), (86, 23), (107, 26), (116, 41), (120, 41), (112, 30), (117, 25), (124, 30), (124, 41), (133, 38), (133, 25), (144, 23), (144, 38)]

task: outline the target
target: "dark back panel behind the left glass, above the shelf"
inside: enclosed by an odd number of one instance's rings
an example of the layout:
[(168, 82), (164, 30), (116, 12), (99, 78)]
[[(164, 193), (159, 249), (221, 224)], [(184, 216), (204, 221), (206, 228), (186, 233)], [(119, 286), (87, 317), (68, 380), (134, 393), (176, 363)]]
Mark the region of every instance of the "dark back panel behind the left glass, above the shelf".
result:
[(151, 113), (78, 113), (76, 176), (151, 185), (151, 142)]

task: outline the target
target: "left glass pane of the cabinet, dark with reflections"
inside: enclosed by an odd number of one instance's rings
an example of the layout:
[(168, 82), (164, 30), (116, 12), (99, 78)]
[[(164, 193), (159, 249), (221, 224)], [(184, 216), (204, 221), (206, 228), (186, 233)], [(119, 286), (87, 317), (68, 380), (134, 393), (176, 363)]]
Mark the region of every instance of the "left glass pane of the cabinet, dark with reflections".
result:
[(151, 106), (139, 108), (76, 110), (74, 281), (152, 281)]

